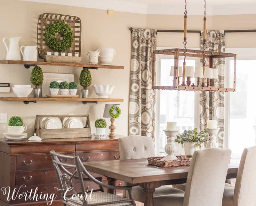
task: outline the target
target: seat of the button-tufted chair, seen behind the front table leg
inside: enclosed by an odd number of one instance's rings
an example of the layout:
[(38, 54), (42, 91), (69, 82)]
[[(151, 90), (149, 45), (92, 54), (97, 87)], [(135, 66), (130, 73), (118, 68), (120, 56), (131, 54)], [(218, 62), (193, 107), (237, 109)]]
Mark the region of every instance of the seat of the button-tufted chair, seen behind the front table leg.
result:
[[(182, 193), (184, 194), (183, 191), (179, 189), (175, 189), (171, 186), (161, 186), (156, 188), (156, 191), (154, 192), (154, 197), (159, 196), (159, 195), (170, 195), (170, 194), (179, 194)], [(132, 187), (132, 196), (134, 200), (139, 201), (139, 202), (144, 202), (145, 201), (145, 195), (146, 193), (143, 190), (143, 187), (140, 186), (134, 186)], [(125, 197), (129, 197), (128, 191), (126, 191)]]

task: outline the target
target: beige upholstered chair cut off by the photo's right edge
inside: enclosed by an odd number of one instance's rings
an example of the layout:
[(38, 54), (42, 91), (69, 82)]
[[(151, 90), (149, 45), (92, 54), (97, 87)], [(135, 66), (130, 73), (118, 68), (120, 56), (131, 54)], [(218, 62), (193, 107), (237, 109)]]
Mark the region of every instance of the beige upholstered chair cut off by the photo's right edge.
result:
[(236, 175), (235, 187), (225, 187), (222, 206), (256, 205), (256, 147), (246, 148)]

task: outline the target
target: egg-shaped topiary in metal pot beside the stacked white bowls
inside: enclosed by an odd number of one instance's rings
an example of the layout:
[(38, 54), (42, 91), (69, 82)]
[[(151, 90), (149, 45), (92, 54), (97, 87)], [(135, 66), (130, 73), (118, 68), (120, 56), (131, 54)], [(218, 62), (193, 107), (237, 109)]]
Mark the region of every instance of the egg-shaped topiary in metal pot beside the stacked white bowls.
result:
[(38, 88), (38, 86), (40, 86), (44, 81), (43, 71), (40, 66), (35, 66), (32, 69), (30, 81), (31, 84), (35, 85), (34, 97), (40, 97), (41, 88)]

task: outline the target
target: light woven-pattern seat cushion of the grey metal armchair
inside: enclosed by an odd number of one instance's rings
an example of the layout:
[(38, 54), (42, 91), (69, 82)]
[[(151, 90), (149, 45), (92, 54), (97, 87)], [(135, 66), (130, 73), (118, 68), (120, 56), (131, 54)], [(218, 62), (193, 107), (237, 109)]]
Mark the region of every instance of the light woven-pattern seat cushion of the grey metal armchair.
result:
[[(93, 193), (92, 199), (90, 199), (89, 197), (90, 197), (90, 195), (88, 194), (88, 198), (87, 198), (88, 204), (126, 200), (123, 197), (113, 195), (110, 193), (106, 193), (106, 192)], [(75, 200), (76, 202), (81, 202), (81, 204), (83, 205), (82, 201), (80, 199), (78, 199), (77, 197), (75, 197), (73, 200)], [(80, 204), (77, 204), (72, 201), (68, 201), (68, 203), (71, 205), (74, 205), (74, 206), (81, 206)], [(114, 203), (114, 204), (107, 204), (107, 205), (101, 205), (101, 206), (123, 206), (123, 205), (131, 205), (131, 202)]]

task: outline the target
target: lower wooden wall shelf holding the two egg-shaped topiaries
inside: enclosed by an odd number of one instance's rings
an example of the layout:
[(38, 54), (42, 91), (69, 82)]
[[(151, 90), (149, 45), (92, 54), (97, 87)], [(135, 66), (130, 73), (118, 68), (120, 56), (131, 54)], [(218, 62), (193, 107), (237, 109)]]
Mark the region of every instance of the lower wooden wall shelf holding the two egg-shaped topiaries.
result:
[(124, 102), (124, 99), (103, 99), (103, 98), (46, 98), (46, 97), (0, 97), (0, 101), (23, 101), (25, 104), (36, 101), (55, 101), (55, 102), (82, 102), (86, 103), (99, 103), (99, 102)]

